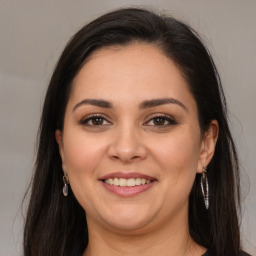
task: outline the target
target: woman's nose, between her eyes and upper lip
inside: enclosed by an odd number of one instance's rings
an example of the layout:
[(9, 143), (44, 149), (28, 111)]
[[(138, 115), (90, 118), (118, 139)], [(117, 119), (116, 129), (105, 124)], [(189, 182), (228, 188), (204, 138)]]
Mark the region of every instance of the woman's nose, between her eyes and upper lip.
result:
[(145, 159), (147, 149), (136, 127), (126, 125), (117, 129), (108, 148), (108, 155), (112, 160), (119, 160), (123, 163)]

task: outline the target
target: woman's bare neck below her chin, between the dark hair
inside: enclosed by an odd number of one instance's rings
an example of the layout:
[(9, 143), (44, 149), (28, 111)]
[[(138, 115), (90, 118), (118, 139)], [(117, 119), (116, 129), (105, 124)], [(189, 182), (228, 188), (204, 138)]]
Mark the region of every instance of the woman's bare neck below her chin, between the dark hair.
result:
[(87, 219), (89, 244), (83, 256), (201, 256), (206, 251), (193, 241), (184, 218), (163, 223), (153, 232), (113, 232), (95, 223), (90, 228), (90, 222)]

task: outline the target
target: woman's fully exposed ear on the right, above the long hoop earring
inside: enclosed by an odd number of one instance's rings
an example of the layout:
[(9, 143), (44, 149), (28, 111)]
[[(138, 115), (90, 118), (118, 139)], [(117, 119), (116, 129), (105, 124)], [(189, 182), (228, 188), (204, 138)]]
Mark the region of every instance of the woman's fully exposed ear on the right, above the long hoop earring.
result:
[(215, 152), (215, 146), (217, 143), (218, 135), (219, 124), (217, 120), (212, 120), (208, 130), (205, 132), (202, 138), (197, 168), (198, 173), (202, 173), (203, 167), (207, 166), (210, 163)]

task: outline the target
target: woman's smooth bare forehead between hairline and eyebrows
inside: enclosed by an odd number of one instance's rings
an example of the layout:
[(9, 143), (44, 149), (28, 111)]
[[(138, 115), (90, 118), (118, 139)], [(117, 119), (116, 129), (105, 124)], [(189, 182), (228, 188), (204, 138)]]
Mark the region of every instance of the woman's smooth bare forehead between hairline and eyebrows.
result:
[(136, 43), (92, 53), (74, 79), (70, 98), (192, 97), (188, 88), (179, 68), (162, 50)]

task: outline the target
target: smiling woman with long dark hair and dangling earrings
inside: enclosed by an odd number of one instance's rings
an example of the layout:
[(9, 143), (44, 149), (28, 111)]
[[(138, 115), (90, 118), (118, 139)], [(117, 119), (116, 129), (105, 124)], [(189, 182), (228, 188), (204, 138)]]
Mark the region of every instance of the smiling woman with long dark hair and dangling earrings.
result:
[(121, 9), (66, 46), (45, 98), (24, 255), (241, 252), (218, 72), (189, 26)]

